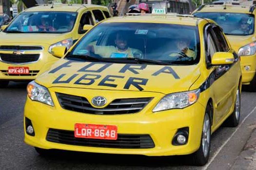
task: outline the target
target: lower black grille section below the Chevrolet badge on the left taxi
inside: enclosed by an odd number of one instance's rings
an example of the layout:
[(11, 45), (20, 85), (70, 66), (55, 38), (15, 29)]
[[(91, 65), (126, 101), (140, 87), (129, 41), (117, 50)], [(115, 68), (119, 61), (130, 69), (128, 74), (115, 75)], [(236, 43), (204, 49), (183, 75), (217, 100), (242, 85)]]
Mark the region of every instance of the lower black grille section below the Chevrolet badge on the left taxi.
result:
[(8, 63), (30, 63), (30, 62), (36, 62), (39, 60), (40, 54), (0, 54), (0, 59), (3, 62)]

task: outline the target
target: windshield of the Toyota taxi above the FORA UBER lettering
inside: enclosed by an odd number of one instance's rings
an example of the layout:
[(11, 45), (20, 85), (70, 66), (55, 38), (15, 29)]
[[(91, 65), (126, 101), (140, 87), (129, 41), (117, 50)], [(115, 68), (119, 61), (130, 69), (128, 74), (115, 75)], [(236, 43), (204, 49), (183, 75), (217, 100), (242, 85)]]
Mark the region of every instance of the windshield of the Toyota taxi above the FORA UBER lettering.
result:
[[(67, 55), (109, 62), (193, 65), (199, 61), (196, 26), (159, 23), (102, 23)], [(155, 62), (155, 63), (154, 63)]]

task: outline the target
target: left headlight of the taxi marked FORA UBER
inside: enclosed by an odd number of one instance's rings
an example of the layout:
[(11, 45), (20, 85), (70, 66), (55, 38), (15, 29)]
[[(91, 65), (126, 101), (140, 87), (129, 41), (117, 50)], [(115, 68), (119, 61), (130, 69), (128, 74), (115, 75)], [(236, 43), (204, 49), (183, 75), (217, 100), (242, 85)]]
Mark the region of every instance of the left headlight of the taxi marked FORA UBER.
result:
[(44, 86), (38, 85), (35, 81), (32, 81), (27, 85), (27, 92), (28, 97), (32, 101), (39, 101), (54, 106), (48, 89)]

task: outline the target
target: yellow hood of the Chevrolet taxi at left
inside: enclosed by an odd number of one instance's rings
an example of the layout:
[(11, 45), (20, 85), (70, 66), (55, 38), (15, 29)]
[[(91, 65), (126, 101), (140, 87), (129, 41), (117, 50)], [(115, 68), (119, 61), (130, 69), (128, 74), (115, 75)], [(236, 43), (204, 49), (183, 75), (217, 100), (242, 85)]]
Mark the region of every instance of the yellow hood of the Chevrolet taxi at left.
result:
[(22, 43), (29, 43), (29, 44), (36, 45), (37, 43), (44, 43), (44, 44), (51, 45), (66, 39), (65, 37), (68, 37), (68, 36), (67, 35), (65, 36), (64, 34), (43, 34), (43, 33), (38, 33), (38, 34), (15, 33), (14, 34), (14, 33), (0, 32), (0, 40), (1, 42), (4, 42), (4, 44), (17, 43), (18, 45), (22, 45)]

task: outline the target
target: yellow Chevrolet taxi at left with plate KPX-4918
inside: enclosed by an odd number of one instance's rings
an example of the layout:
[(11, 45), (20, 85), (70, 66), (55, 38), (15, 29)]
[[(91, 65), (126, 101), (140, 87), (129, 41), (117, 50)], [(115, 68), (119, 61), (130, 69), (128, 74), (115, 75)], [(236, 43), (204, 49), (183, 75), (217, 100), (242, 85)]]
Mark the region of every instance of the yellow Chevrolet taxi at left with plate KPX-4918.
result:
[(110, 17), (99, 5), (49, 4), (29, 8), (0, 32), (0, 87), (34, 80), (59, 60), (52, 48), (67, 50), (92, 25)]

